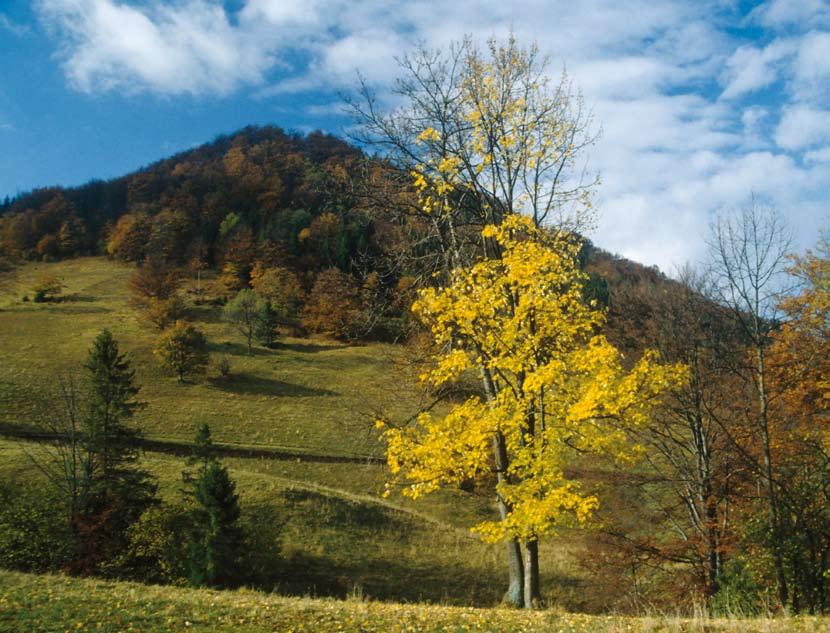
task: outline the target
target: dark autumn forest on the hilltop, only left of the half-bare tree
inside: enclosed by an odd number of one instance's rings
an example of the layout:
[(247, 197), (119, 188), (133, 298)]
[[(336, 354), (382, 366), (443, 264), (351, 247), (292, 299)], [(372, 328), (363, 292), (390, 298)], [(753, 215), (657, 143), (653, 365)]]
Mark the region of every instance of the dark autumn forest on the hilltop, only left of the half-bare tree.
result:
[[(299, 255), (300, 232), (324, 212), (344, 223), (339, 246), (354, 249), (367, 239), (367, 227), (350, 215), (355, 202), (349, 182), (360, 157), (359, 150), (320, 132), (248, 127), (120, 178), (7, 200), (0, 205), (0, 251), (58, 259), (109, 250), (141, 259), (158, 249), (180, 261), (198, 256), (212, 264), (223, 238), (239, 232), (246, 237), (247, 229), (255, 241), (283, 243)], [(132, 231), (124, 216), (130, 216)], [(113, 237), (127, 243), (108, 244)]]

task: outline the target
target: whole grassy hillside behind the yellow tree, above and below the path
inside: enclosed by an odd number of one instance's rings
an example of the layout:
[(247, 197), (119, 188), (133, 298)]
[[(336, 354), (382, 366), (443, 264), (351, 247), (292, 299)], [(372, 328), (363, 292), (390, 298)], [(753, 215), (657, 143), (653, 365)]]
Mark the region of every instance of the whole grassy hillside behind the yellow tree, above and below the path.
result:
[[(130, 266), (101, 258), (33, 264), (0, 290), (0, 431), (25, 427), (32, 403), (50, 377), (77, 370), (94, 336), (109, 327), (127, 351), (142, 385), (146, 409), (138, 423), (154, 439), (189, 441), (198, 423), (214, 437), (242, 445), (289, 447), (310, 454), (381, 454), (372, 411), (405, 413), (414, 389), (387, 345), (342, 346), (326, 340), (288, 339), (276, 350), (245, 353), (241, 336), (218, 310), (194, 315), (217, 354), (226, 354), (234, 378), (208, 377), (180, 385), (152, 356), (156, 333), (127, 305)], [(42, 274), (59, 276), (78, 300), (21, 302)], [(226, 345), (225, 341), (230, 342)], [(0, 476), (36, 476), (26, 452), (33, 445), (0, 441)], [(175, 497), (180, 458), (146, 453), (162, 493)], [(448, 491), (413, 503), (382, 499), (385, 467), (309, 460), (226, 459), (238, 481), (243, 508), (281, 524), (284, 583), (291, 593), (494, 604), (504, 583), (503, 549), (464, 529), (492, 512), (489, 498)], [(264, 513), (264, 515), (262, 514)], [(570, 608), (591, 606), (576, 569), (578, 542), (543, 550), (548, 597)], [(597, 605), (593, 605), (597, 608)]]

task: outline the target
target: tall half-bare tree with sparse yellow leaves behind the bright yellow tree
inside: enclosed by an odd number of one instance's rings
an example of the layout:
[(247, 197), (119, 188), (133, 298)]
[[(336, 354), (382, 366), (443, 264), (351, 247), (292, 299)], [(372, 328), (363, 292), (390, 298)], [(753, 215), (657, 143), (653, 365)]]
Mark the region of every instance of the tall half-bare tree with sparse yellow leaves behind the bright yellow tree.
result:
[[(374, 182), (366, 193), (368, 208), (384, 216), (391, 209), (395, 222), (416, 236), (395, 256), (396, 265), (407, 266), (404, 274), (446, 284), (454, 269), (482, 257), (498, 259), (481, 227), (513, 214), (524, 213), (536, 226), (571, 231), (591, 224), (590, 194), (597, 179), (584, 177), (580, 165), (594, 140), (591, 116), (566, 75), (550, 81), (548, 60), (536, 46), (522, 47), (511, 36), (481, 50), (465, 40), (446, 52), (422, 48), (400, 63), (403, 77), (395, 91), (401, 107), (382, 113), (365, 83), (361, 99), (351, 105), (361, 123), (359, 139), (382, 150), (394, 166), (387, 177), (397, 177), (400, 188), (409, 191), (408, 178), (414, 178), (417, 197), (377, 199), (376, 192), (388, 187)], [(484, 389), (491, 391), (490, 368), (478, 369)], [(497, 437), (493, 455), (504, 450)], [(508, 540), (506, 549), (505, 599), (520, 605), (519, 541)], [(531, 545), (532, 560), (534, 552)]]

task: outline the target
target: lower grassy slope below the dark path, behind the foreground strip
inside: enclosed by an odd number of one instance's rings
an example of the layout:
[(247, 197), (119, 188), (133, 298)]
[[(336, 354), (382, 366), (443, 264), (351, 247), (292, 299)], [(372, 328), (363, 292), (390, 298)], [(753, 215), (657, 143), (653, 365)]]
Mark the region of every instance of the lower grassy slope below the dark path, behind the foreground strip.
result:
[[(38, 444), (0, 440), (0, 479), (39, 485), (31, 457), (42, 459), (45, 450)], [(339, 598), (358, 592), (382, 600), (479, 606), (499, 602), (505, 582), (503, 548), (424, 512), (434, 507), (319, 483), (320, 470), (291, 470), (308, 464), (289, 462), (282, 470), (283, 463), (267, 460), (226, 463), (237, 482), (244, 522), (253, 526), (263, 558), (274, 561), (269, 578), (277, 580), (266, 588)], [(181, 459), (148, 453), (142, 465), (158, 478), (162, 499), (181, 501)], [(331, 467), (333, 480), (348, 477), (356, 489), (378, 484), (384, 474), (377, 467), (325, 466)], [(273, 474), (275, 470), (280, 474)], [(363, 484), (358, 483), (361, 477)], [(468, 513), (475, 505), (460, 493), (447, 493), (444, 502)], [(480, 510), (486, 511), (486, 504)], [(548, 600), (584, 607), (579, 597), (584, 579), (568, 571), (572, 553), (562, 543), (543, 553)]]

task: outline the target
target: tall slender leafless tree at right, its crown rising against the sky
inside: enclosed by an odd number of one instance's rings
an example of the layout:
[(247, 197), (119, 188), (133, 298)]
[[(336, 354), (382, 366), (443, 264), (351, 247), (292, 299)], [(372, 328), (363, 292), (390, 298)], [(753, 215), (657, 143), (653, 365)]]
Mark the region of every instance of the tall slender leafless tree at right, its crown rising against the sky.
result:
[[(787, 257), (792, 238), (781, 215), (754, 196), (739, 211), (721, 215), (712, 225), (709, 242), (714, 296), (745, 338), (749, 353), (735, 357), (733, 371), (754, 399), (747, 422), (760, 444), (752, 463), (763, 482), (771, 535), (778, 599), (787, 606), (788, 587), (782, 551), (780, 490), (776, 482), (770, 434), (770, 370), (767, 348), (779, 319), (778, 303), (785, 290)], [(749, 451), (742, 451), (750, 455)]]

